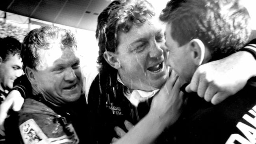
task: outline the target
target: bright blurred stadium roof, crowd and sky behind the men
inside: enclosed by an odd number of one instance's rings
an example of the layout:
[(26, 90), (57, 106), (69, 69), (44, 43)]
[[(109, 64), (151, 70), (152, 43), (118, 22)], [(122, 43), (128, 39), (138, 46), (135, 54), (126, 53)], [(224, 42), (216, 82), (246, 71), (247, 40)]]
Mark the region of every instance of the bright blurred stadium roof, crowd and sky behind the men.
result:
[[(4, 0), (0, 5), (0, 37), (13, 36), (22, 42), (34, 28), (54, 25), (76, 35), (81, 66), (86, 78), (97, 74), (98, 45), (95, 38), (99, 13), (113, 0)], [(157, 14), (169, 0), (148, 0)], [(256, 30), (256, 0), (241, 0)], [(256, 35), (253, 35), (256, 37)], [(90, 79), (90, 78), (89, 78)]]

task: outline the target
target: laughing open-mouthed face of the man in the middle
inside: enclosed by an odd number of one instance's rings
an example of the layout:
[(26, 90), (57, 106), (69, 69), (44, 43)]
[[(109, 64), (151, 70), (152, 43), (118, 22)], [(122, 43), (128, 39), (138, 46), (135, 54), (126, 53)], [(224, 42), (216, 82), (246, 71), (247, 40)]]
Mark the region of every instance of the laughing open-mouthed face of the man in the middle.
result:
[(159, 89), (169, 76), (162, 26), (153, 18), (134, 25), (128, 33), (119, 33), (118, 72), (130, 89)]

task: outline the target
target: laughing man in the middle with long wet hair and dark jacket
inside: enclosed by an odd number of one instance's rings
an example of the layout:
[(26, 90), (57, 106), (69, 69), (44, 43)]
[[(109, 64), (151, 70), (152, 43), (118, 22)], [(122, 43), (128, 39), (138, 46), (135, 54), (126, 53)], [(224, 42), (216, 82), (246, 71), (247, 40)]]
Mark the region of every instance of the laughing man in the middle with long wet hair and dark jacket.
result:
[[(110, 142), (115, 136), (113, 129), (123, 129), (123, 123), (129, 127), (125, 120), (132, 124), (141, 120), (150, 109), (152, 96), (169, 77), (163, 29), (154, 16), (153, 7), (145, 0), (117, 0), (98, 17), (96, 38), (100, 67), (89, 91), (88, 105), (93, 118), (92, 133), (98, 134), (99, 143)], [(250, 58), (255, 63), (253, 57)], [(173, 91), (178, 91), (178, 87), (175, 88)], [(214, 90), (218, 91), (216, 87)], [(179, 92), (165, 94), (175, 97)], [(179, 114), (173, 116), (175, 120)], [(124, 131), (117, 135), (121, 137), (122, 133)], [(160, 139), (166, 141), (164, 137)]]

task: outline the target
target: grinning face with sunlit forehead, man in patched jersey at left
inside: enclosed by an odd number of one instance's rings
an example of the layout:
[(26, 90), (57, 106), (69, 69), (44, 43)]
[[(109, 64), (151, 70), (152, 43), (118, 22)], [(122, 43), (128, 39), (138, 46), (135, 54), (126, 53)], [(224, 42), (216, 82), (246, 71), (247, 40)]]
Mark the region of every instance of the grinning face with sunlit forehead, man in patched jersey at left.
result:
[(38, 70), (34, 71), (37, 88), (55, 104), (74, 102), (81, 95), (80, 60), (74, 48), (61, 49), (55, 44), (41, 50)]

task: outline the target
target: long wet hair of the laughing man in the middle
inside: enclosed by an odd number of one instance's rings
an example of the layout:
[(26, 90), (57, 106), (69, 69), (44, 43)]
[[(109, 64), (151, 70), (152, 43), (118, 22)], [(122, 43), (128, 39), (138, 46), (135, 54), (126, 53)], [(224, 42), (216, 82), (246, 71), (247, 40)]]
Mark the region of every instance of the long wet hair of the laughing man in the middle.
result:
[(100, 74), (117, 72), (104, 59), (104, 52), (115, 52), (119, 44), (119, 32), (127, 33), (133, 25), (142, 25), (147, 17), (154, 16), (154, 8), (146, 0), (115, 0), (98, 16), (96, 39)]

